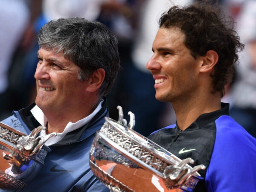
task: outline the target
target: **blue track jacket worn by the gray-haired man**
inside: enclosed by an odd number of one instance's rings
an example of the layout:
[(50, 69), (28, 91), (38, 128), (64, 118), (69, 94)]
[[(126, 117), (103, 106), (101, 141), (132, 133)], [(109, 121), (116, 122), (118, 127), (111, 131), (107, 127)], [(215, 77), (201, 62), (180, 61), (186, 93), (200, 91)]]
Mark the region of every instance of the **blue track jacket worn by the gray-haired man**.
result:
[[(44, 166), (33, 163), (20, 177), (27, 185), (17, 192), (109, 192), (90, 170), (90, 146), (108, 116), (106, 99), (102, 109), (83, 127), (68, 133), (61, 141), (49, 146)], [(3, 120), (3, 123), (25, 134), (39, 126), (30, 110), (35, 104)], [(32, 173), (31, 173), (32, 170)], [(0, 189), (0, 192), (7, 190)]]

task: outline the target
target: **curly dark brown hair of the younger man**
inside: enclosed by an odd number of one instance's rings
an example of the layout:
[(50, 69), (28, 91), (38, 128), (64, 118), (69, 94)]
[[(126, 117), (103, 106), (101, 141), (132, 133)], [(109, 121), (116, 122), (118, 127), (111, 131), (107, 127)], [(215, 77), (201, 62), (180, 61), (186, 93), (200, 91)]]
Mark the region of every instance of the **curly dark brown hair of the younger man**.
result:
[(185, 46), (194, 58), (205, 56), (207, 51), (218, 53), (218, 62), (211, 74), (214, 91), (225, 94), (224, 86), (230, 83), (238, 52), (244, 49), (234, 30), (234, 20), (226, 17), (218, 3), (198, 1), (189, 6), (174, 6), (161, 15), (160, 27), (178, 27), (185, 34)]

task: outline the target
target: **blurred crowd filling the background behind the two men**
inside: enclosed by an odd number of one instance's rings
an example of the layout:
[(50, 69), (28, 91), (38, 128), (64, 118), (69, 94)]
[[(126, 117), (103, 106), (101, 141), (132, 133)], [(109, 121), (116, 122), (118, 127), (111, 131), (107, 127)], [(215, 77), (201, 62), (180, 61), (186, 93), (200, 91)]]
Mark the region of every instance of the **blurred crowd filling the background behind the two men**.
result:
[[(237, 22), (245, 44), (222, 100), (230, 103), (230, 115), (256, 137), (256, 1), (218, 2)], [(110, 117), (118, 119), (117, 105), (128, 121), (128, 111), (133, 112), (135, 131), (144, 136), (175, 123), (172, 105), (155, 99), (154, 79), (145, 65), (160, 15), (173, 4), (189, 3), (194, 1), (0, 0), (0, 120), (35, 101), (36, 35), (41, 26), (59, 17), (84, 17), (105, 23), (119, 39), (122, 70), (107, 96)]]

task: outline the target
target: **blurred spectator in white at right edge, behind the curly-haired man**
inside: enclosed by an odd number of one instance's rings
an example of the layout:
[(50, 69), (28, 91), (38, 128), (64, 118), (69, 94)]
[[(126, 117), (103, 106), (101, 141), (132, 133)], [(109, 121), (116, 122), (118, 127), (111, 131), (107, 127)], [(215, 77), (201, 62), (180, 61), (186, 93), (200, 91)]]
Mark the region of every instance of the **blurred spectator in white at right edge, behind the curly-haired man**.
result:
[(237, 32), (245, 48), (230, 90), (230, 116), (256, 137), (256, 1), (244, 1), (236, 20)]

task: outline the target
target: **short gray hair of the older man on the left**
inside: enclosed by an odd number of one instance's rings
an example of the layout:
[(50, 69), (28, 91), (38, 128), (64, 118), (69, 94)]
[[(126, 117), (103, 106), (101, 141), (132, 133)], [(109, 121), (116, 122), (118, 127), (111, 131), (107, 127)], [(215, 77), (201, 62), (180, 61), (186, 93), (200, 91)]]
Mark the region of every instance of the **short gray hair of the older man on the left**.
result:
[(116, 36), (100, 22), (84, 18), (51, 20), (39, 30), (39, 47), (63, 52), (67, 60), (80, 67), (79, 79), (88, 80), (96, 69), (105, 70), (98, 96), (105, 96), (113, 86), (120, 68)]

